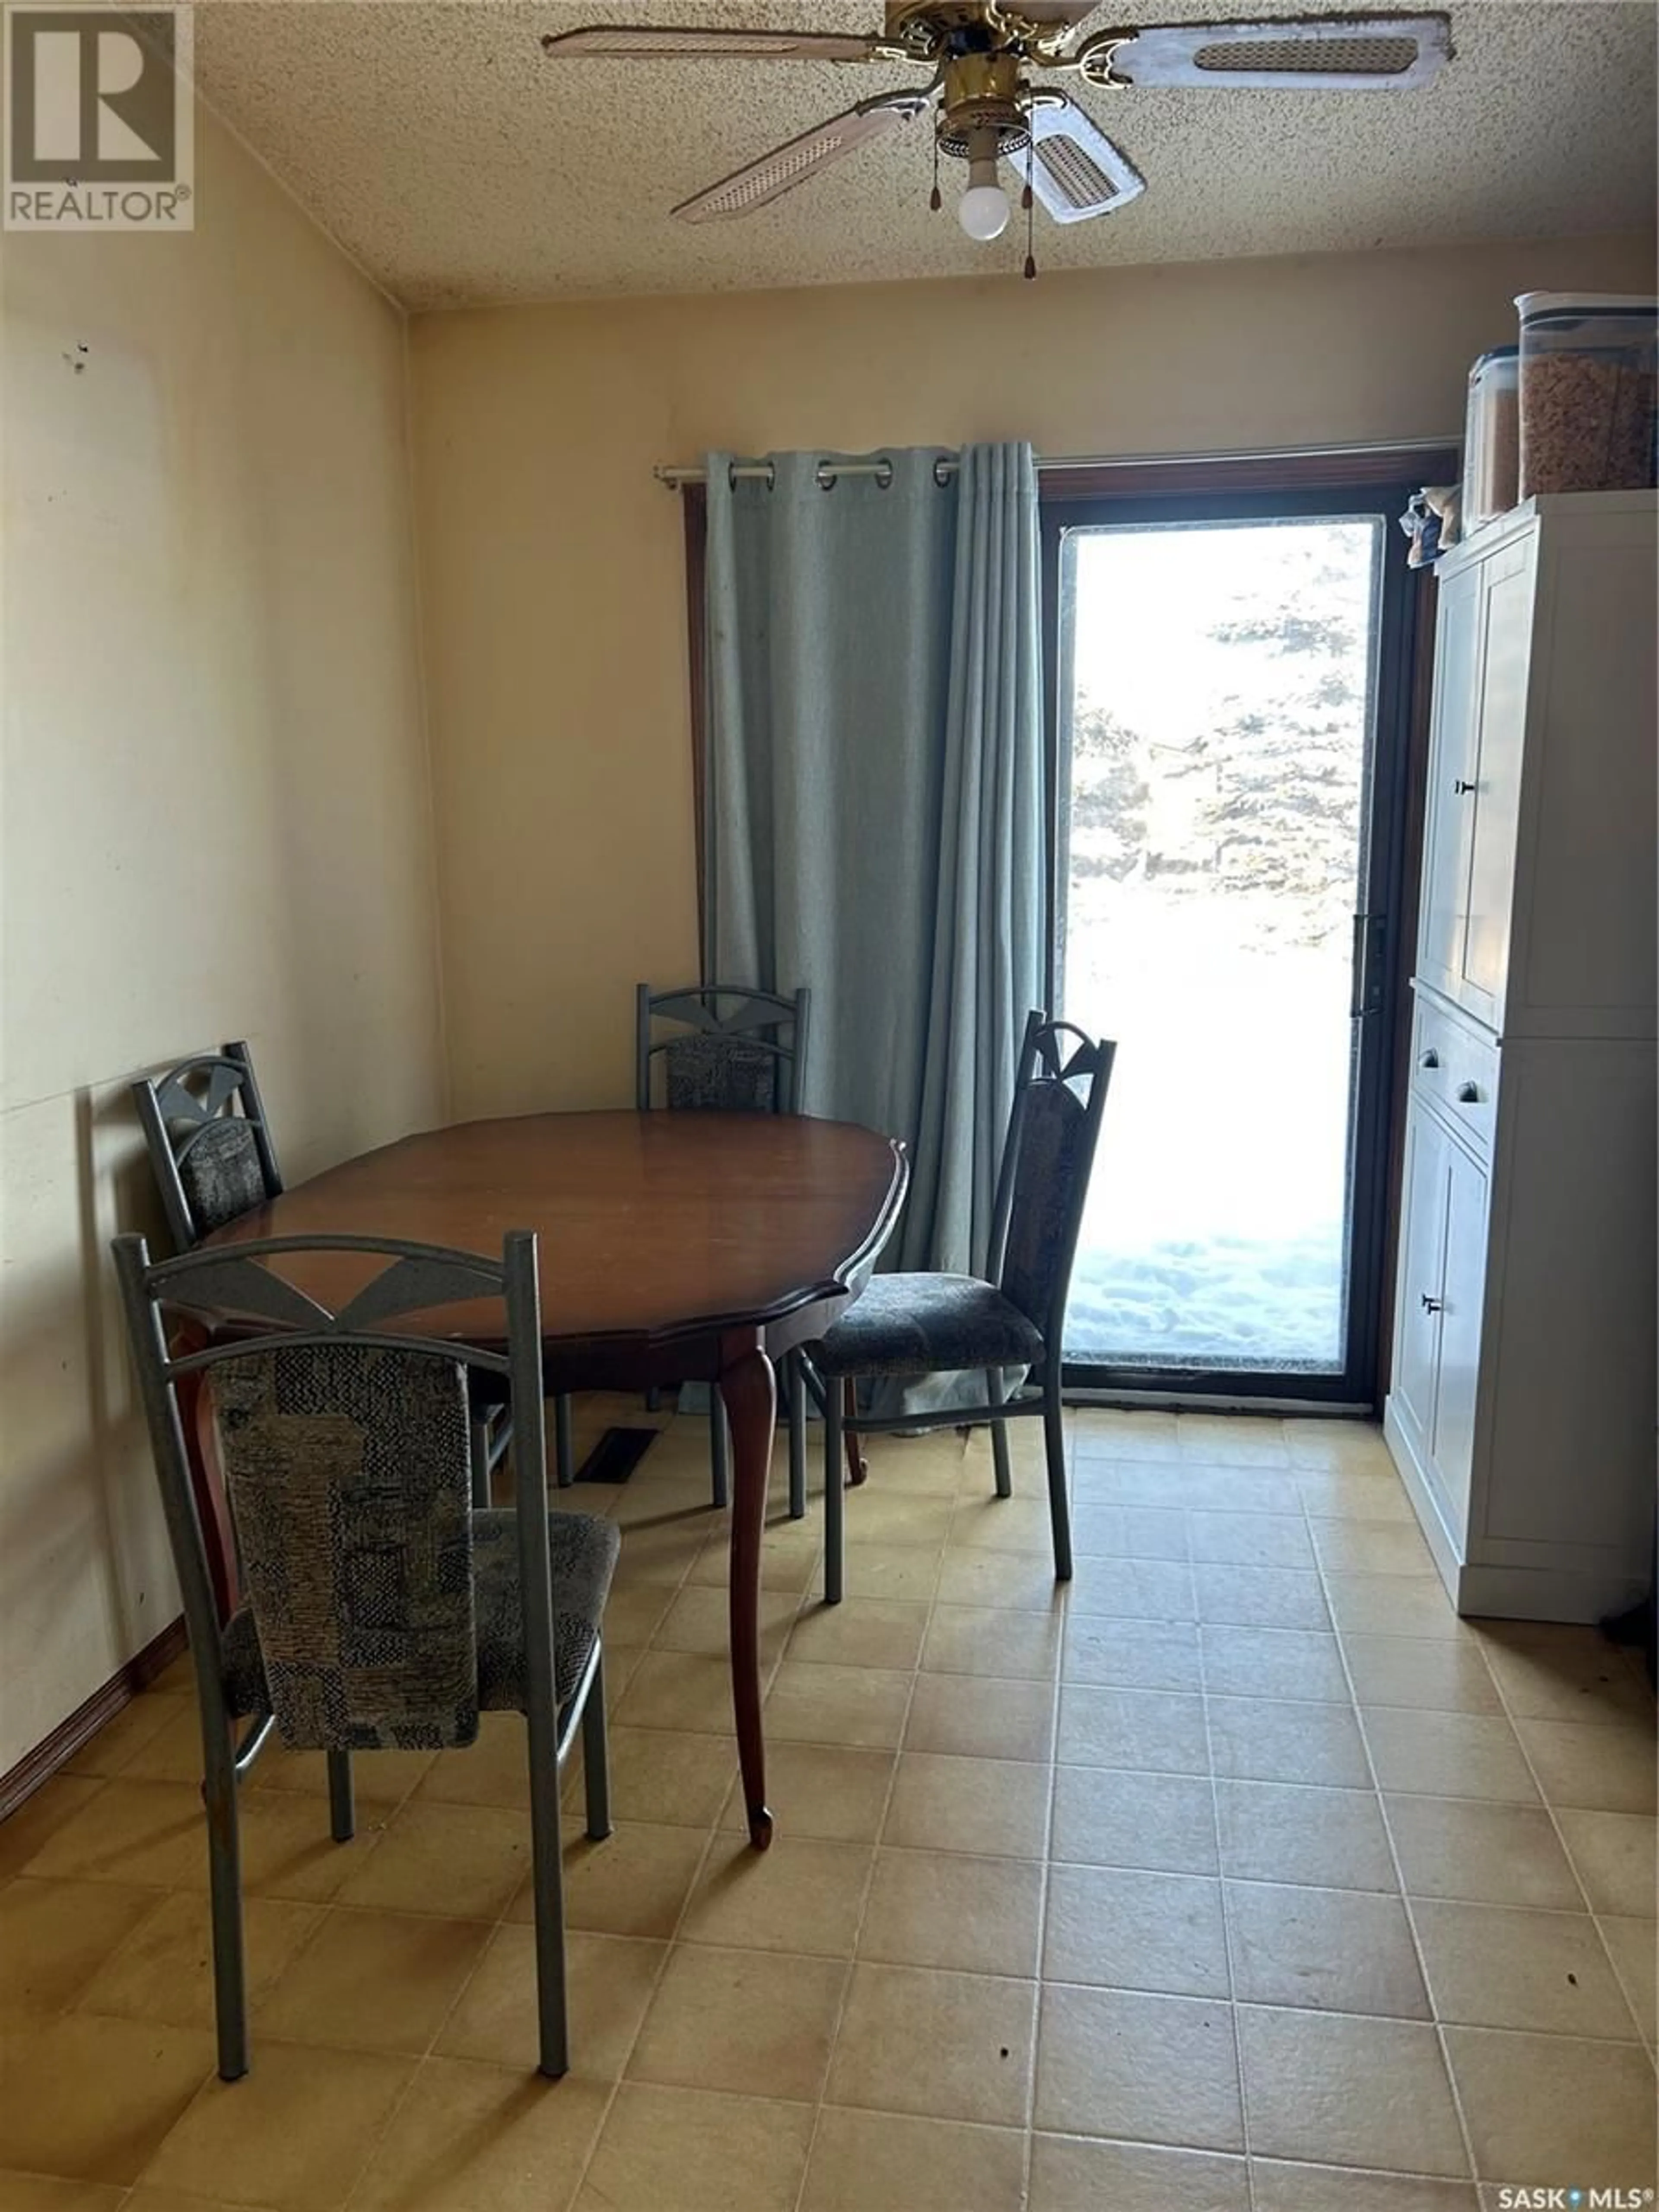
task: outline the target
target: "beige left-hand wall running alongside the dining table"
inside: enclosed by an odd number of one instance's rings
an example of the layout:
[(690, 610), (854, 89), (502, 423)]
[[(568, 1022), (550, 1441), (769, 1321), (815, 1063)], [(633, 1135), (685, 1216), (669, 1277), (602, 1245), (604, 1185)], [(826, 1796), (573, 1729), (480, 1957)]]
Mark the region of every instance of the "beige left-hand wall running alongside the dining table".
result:
[(208, 126), (197, 206), (4, 241), (0, 1772), (177, 1610), (126, 1079), (248, 1035), (290, 1175), (445, 1108), (403, 321)]

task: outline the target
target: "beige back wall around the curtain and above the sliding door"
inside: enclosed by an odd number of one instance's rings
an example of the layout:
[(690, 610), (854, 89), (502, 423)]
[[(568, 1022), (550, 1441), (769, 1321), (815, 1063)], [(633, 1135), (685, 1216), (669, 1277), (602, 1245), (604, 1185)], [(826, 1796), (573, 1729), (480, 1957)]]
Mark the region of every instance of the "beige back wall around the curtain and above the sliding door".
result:
[(1644, 239), (425, 316), (416, 498), (460, 1115), (611, 1104), (697, 967), (679, 502), (706, 447), (1217, 451), (1462, 427), (1526, 285)]

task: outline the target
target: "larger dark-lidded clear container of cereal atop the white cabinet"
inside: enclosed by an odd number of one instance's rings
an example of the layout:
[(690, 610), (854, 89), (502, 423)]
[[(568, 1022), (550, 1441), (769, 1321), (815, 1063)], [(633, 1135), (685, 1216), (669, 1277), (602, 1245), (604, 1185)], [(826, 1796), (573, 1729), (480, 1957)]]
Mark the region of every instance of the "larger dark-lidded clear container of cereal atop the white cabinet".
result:
[(1520, 495), (1659, 482), (1659, 301), (1522, 292)]

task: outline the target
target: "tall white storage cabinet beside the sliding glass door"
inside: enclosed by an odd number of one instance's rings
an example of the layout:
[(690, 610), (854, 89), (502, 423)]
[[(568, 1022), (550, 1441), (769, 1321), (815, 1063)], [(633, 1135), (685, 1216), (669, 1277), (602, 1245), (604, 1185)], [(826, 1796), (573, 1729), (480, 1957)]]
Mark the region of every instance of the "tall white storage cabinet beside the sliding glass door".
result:
[(1460, 1613), (1652, 1573), (1657, 520), (1528, 500), (1440, 564), (1385, 1431)]

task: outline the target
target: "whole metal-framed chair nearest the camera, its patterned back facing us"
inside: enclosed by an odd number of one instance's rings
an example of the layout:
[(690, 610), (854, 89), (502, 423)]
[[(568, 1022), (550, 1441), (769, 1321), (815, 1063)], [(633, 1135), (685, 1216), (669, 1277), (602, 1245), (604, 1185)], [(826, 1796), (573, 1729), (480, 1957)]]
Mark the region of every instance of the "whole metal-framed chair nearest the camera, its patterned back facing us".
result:
[[(330, 1310), (292, 1274), (343, 1252), (367, 1279)], [(469, 1745), (480, 1712), (502, 1710), (526, 1721), (538, 2057), (562, 2075), (560, 1767), (580, 1732), (588, 1836), (608, 1836), (602, 1617), (619, 1535), (542, 1509), (535, 1237), (509, 1234), (500, 1261), (274, 1237), (159, 1263), (117, 1237), (115, 1267), (201, 1710), (221, 2077), (248, 2073), (237, 1796), (270, 1736), (325, 1752), (330, 1829), (349, 1843), (354, 1752)], [(504, 1305), (504, 1352), (396, 1327), (480, 1298)], [(471, 1504), (465, 1371), (511, 1389), (518, 1511)], [(212, 1394), (243, 1586), (223, 1621), (179, 1407), (195, 1378)]]

